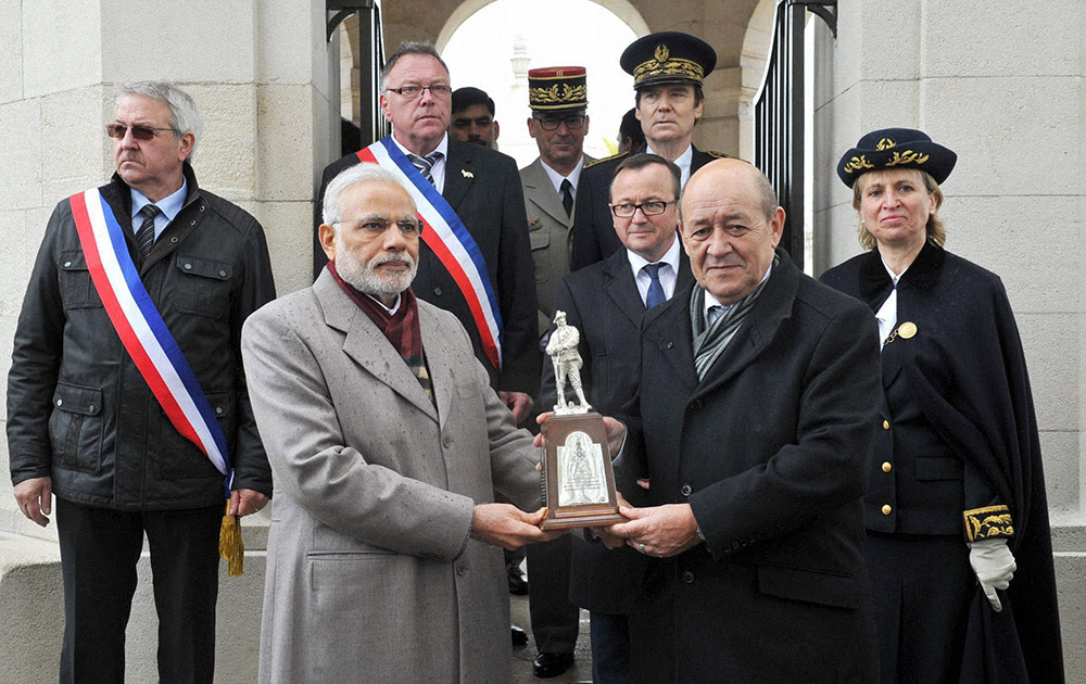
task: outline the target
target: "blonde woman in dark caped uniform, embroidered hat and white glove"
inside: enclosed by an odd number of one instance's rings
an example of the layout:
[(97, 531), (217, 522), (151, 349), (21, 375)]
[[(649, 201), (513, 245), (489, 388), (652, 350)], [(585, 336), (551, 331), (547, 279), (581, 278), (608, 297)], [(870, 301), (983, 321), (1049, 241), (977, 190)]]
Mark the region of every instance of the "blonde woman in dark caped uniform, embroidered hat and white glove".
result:
[(1025, 358), (999, 278), (943, 249), (957, 161), (919, 130), (837, 165), (866, 253), (822, 281), (879, 321), (884, 398), (864, 555), (889, 682), (1062, 682), (1056, 583)]

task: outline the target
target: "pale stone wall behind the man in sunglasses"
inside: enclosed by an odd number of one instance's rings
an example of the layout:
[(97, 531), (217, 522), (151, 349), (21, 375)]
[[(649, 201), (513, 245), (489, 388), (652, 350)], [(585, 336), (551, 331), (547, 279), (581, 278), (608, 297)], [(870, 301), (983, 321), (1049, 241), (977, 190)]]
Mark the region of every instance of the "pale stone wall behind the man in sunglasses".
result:
[[(201, 187), (264, 225), (279, 293), (311, 280), (313, 195), (339, 153), (338, 43), (323, 0), (153, 2), (0, 0), (0, 373), (46, 223), (67, 195), (113, 172), (117, 85), (172, 80), (204, 117), (193, 167)], [(7, 415), (3, 416), (7, 420)], [(7, 442), (0, 464), (7, 470)], [(247, 518), (245, 575), (225, 579), (216, 681), (253, 682), (266, 514)], [(4, 679), (56, 681), (63, 611), (54, 525), (25, 520), (0, 484), (0, 630)], [(30, 539), (31, 536), (38, 539)], [(140, 563), (128, 679), (155, 679), (150, 572)]]

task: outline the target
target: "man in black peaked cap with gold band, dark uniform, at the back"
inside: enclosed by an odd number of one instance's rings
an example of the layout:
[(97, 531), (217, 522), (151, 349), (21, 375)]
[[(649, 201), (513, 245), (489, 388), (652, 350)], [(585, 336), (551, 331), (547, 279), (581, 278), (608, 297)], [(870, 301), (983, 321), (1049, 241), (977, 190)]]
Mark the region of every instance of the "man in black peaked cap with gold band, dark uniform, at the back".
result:
[[(649, 34), (630, 43), (620, 64), (633, 76), (634, 110), (645, 134), (645, 147), (633, 152), (658, 154), (673, 162), (681, 169), (682, 185), (702, 166), (727, 156), (703, 152), (691, 142), (694, 125), (702, 118), (702, 81), (717, 65), (717, 53), (709, 43), (678, 31)], [(595, 264), (622, 246), (611, 226), (607, 195), (623, 156), (584, 165), (577, 187), (573, 270)]]

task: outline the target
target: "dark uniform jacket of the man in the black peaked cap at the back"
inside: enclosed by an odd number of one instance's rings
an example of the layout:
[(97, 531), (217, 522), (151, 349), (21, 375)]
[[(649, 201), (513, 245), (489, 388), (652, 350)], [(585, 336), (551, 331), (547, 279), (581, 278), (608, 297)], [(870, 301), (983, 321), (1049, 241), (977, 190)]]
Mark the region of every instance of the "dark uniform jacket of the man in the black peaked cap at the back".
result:
[[(693, 145), (691, 145), (693, 147)], [(644, 152), (642, 148), (636, 152)], [(616, 154), (585, 164), (581, 169), (581, 179), (577, 183), (577, 202), (573, 211), (573, 243), (570, 256), (572, 270), (578, 270), (610, 256), (622, 246), (615, 235), (615, 220), (611, 218), (610, 181), (615, 169), (622, 163), (627, 154)], [(694, 148), (694, 156), (690, 163), (690, 173), (694, 174), (712, 160), (728, 156), (720, 152), (703, 152)]]

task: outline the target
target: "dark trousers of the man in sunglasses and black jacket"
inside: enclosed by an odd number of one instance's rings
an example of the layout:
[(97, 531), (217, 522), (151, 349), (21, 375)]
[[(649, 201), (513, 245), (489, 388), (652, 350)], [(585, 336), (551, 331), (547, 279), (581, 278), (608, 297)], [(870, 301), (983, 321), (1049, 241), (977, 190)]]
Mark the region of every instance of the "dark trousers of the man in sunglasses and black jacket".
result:
[(222, 506), (129, 512), (56, 499), (62, 684), (125, 681), (125, 628), (144, 533), (159, 615), (160, 682), (212, 681), (222, 519)]

